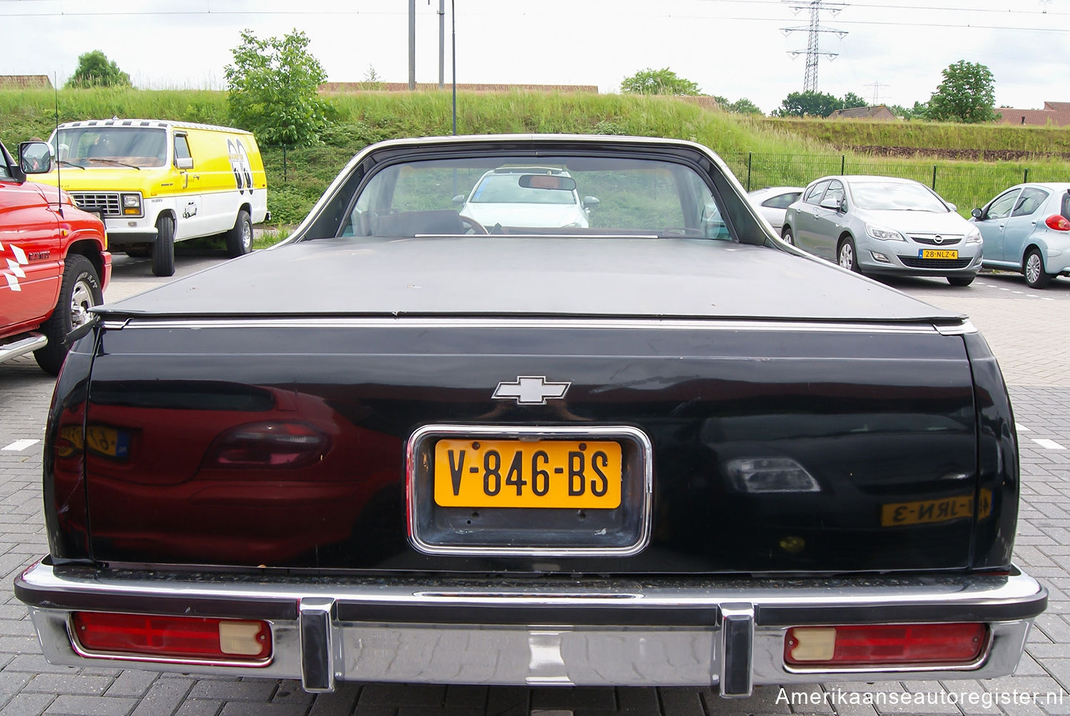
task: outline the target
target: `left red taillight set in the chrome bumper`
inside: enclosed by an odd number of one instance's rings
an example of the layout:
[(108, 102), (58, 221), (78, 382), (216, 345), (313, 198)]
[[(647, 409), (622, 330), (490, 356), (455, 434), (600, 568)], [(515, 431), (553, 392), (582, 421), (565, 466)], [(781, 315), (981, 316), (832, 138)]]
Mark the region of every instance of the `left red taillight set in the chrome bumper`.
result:
[(87, 656), (264, 666), (271, 660), (268, 622), (76, 611), (72, 637)]

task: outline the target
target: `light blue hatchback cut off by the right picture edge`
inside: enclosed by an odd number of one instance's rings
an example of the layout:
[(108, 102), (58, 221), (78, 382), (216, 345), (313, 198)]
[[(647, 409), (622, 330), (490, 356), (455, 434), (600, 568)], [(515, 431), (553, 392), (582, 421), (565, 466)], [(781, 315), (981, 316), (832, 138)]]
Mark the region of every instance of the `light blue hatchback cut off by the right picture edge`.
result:
[(1012, 186), (973, 216), (985, 268), (1021, 271), (1031, 288), (1070, 275), (1070, 183)]

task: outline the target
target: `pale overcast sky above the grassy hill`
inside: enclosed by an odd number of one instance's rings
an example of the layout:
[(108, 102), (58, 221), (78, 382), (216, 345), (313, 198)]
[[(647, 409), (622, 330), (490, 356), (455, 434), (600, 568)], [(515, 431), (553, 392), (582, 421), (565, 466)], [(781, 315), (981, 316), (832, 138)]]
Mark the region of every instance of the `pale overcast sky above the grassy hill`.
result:
[[(768, 113), (802, 89), (811, 0), (456, 0), (457, 81), (597, 85), (669, 67), (706, 94)], [(941, 71), (981, 62), (996, 104), (1070, 102), (1070, 0), (857, 0), (824, 5), (817, 89), (926, 102)], [(225, 89), (242, 29), (296, 28), (331, 81), (409, 78), (408, 0), (0, 0), (0, 74), (63, 81), (103, 50), (138, 87)], [(446, 0), (446, 82), (450, 2)], [(795, 12), (796, 9), (798, 12)], [(439, 77), (439, 0), (416, 0), (416, 80)], [(784, 28), (802, 28), (785, 33)], [(792, 57), (790, 51), (801, 50)], [(55, 79), (54, 79), (55, 81)]]

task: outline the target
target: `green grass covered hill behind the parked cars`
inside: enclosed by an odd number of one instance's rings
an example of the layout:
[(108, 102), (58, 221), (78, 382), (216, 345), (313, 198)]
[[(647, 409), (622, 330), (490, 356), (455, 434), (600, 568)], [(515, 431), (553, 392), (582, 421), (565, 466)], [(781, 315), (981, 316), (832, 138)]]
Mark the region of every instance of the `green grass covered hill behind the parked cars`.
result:
[[(324, 95), (332, 123), (316, 147), (261, 146), (268, 170), (269, 208), (281, 224), (299, 222), (342, 166), (368, 143), (394, 137), (450, 133), (450, 93), (362, 92)], [(227, 95), (210, 90), (88, 89), (0, 90), (0, 138), (9, 149), (47, 137), (60, 122), (108, 117), (171, 119), (230, 125)], [(554, 94), (532, 91), (461, 92), (458, 134), (576, 133), (676, 137), (718, 152), (751, 188), (806, 184), (849, 172), (888, 173), (924, 180), (933, 157), (948, 150), (1013, 150), (996, 162), (947, 162), (937, 191), (968, 212), (995, 191), (1030, 178), (1070, 178), (1070, 127), (966, 126), (923, 122), (836, 122), (747, 118), (712, 111), (672, 97), (621, 94)], [(892, 153), (874, 148), (911, 150)], [(1018, 157), (1028, 157), (1021, 159)], [(1041, 158), (1043, 157), (1043, 158)], [(1004, 161), (1012, 158), (1013, 161)], [(946, 171), (962, 177), (944, 179)], [(931, 183), (928, 182), (927, 183)]]

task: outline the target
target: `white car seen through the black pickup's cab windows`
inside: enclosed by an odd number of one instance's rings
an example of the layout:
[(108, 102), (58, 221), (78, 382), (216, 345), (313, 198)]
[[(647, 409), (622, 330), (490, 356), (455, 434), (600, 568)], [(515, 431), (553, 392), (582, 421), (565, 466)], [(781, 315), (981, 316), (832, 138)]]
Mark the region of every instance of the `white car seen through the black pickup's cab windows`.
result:
[(462, 218), (488, 230), (495, 226), (526, 228), (587, 228), (595, 197), (576, 191), (567, 171), (552, 167), (500, 167), (475, 183), (468, 196), (454, 197)]

